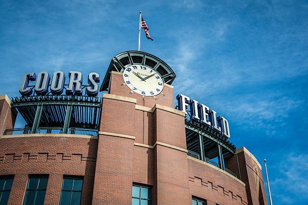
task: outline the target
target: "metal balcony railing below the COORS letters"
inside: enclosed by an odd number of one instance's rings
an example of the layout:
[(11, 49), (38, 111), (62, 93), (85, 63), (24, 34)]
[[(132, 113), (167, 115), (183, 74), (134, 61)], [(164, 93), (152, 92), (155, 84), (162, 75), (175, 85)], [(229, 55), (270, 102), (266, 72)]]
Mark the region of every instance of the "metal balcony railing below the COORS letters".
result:
[[(63, 128), (61, 127), (39, 127), (36, 133), (63, 134)], [(32, 128), (7, 129), (4, 132), (4, 135), (24, 135), (24, 134), (32, 134)], [(69, 128), (67, 134), (98, 136), (98, 130), (86, 129), (86, 128)]]

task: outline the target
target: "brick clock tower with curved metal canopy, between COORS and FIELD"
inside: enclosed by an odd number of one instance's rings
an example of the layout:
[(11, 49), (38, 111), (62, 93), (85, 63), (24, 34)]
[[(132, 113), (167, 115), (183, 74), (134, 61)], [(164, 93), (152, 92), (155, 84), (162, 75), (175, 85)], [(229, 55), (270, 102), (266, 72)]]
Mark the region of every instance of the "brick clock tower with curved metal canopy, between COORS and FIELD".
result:
[(93, 204), (130, 205), (134, 184), (150, 187), (148, 204), (191, 203), (185, 113), (174, 109), (175, 77), (163, 60), (145, 52), (127, 51), (111, 60), (100, 89), (108, 93)]

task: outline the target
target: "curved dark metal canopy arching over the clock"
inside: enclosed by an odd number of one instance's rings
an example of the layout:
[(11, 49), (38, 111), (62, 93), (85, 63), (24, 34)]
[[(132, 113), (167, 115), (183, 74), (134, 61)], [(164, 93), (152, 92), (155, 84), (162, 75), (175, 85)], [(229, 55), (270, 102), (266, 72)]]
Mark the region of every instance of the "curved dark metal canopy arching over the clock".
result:
[(100, 91), (108, 90), (111, 71), (123, 72), (127, 66), (132, 64), (151, 67), (162, 76), (165, 83), (170, 85), (176, 77), (176, 74), (172, 68), (162, 59), (142, 51), (125, 51), (112, 58)]

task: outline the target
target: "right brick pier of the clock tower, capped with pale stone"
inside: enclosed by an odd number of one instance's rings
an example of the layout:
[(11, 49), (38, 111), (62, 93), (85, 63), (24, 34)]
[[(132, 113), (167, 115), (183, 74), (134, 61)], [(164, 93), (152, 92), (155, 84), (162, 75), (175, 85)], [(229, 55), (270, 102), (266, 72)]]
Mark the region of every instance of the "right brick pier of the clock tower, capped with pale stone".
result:
[[(185, 114), (156, 105), (153, 204), (191, 204), (185, 137)], [(157, 201), (156, 201), (157, 200)]]

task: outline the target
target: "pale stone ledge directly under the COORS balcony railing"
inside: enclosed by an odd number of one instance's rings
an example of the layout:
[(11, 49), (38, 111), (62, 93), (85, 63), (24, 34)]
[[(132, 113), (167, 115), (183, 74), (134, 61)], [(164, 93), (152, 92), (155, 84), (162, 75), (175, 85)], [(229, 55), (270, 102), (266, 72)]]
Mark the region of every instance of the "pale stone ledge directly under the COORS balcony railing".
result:
[(86, 138), (86, 139), (98, 139), (93, 135), (71, 135), (71, 134), (24, 134), (24, 135), (2, 135), (0, 139), (18, 138), (18, 137), (72, 137), (72, 138)]

